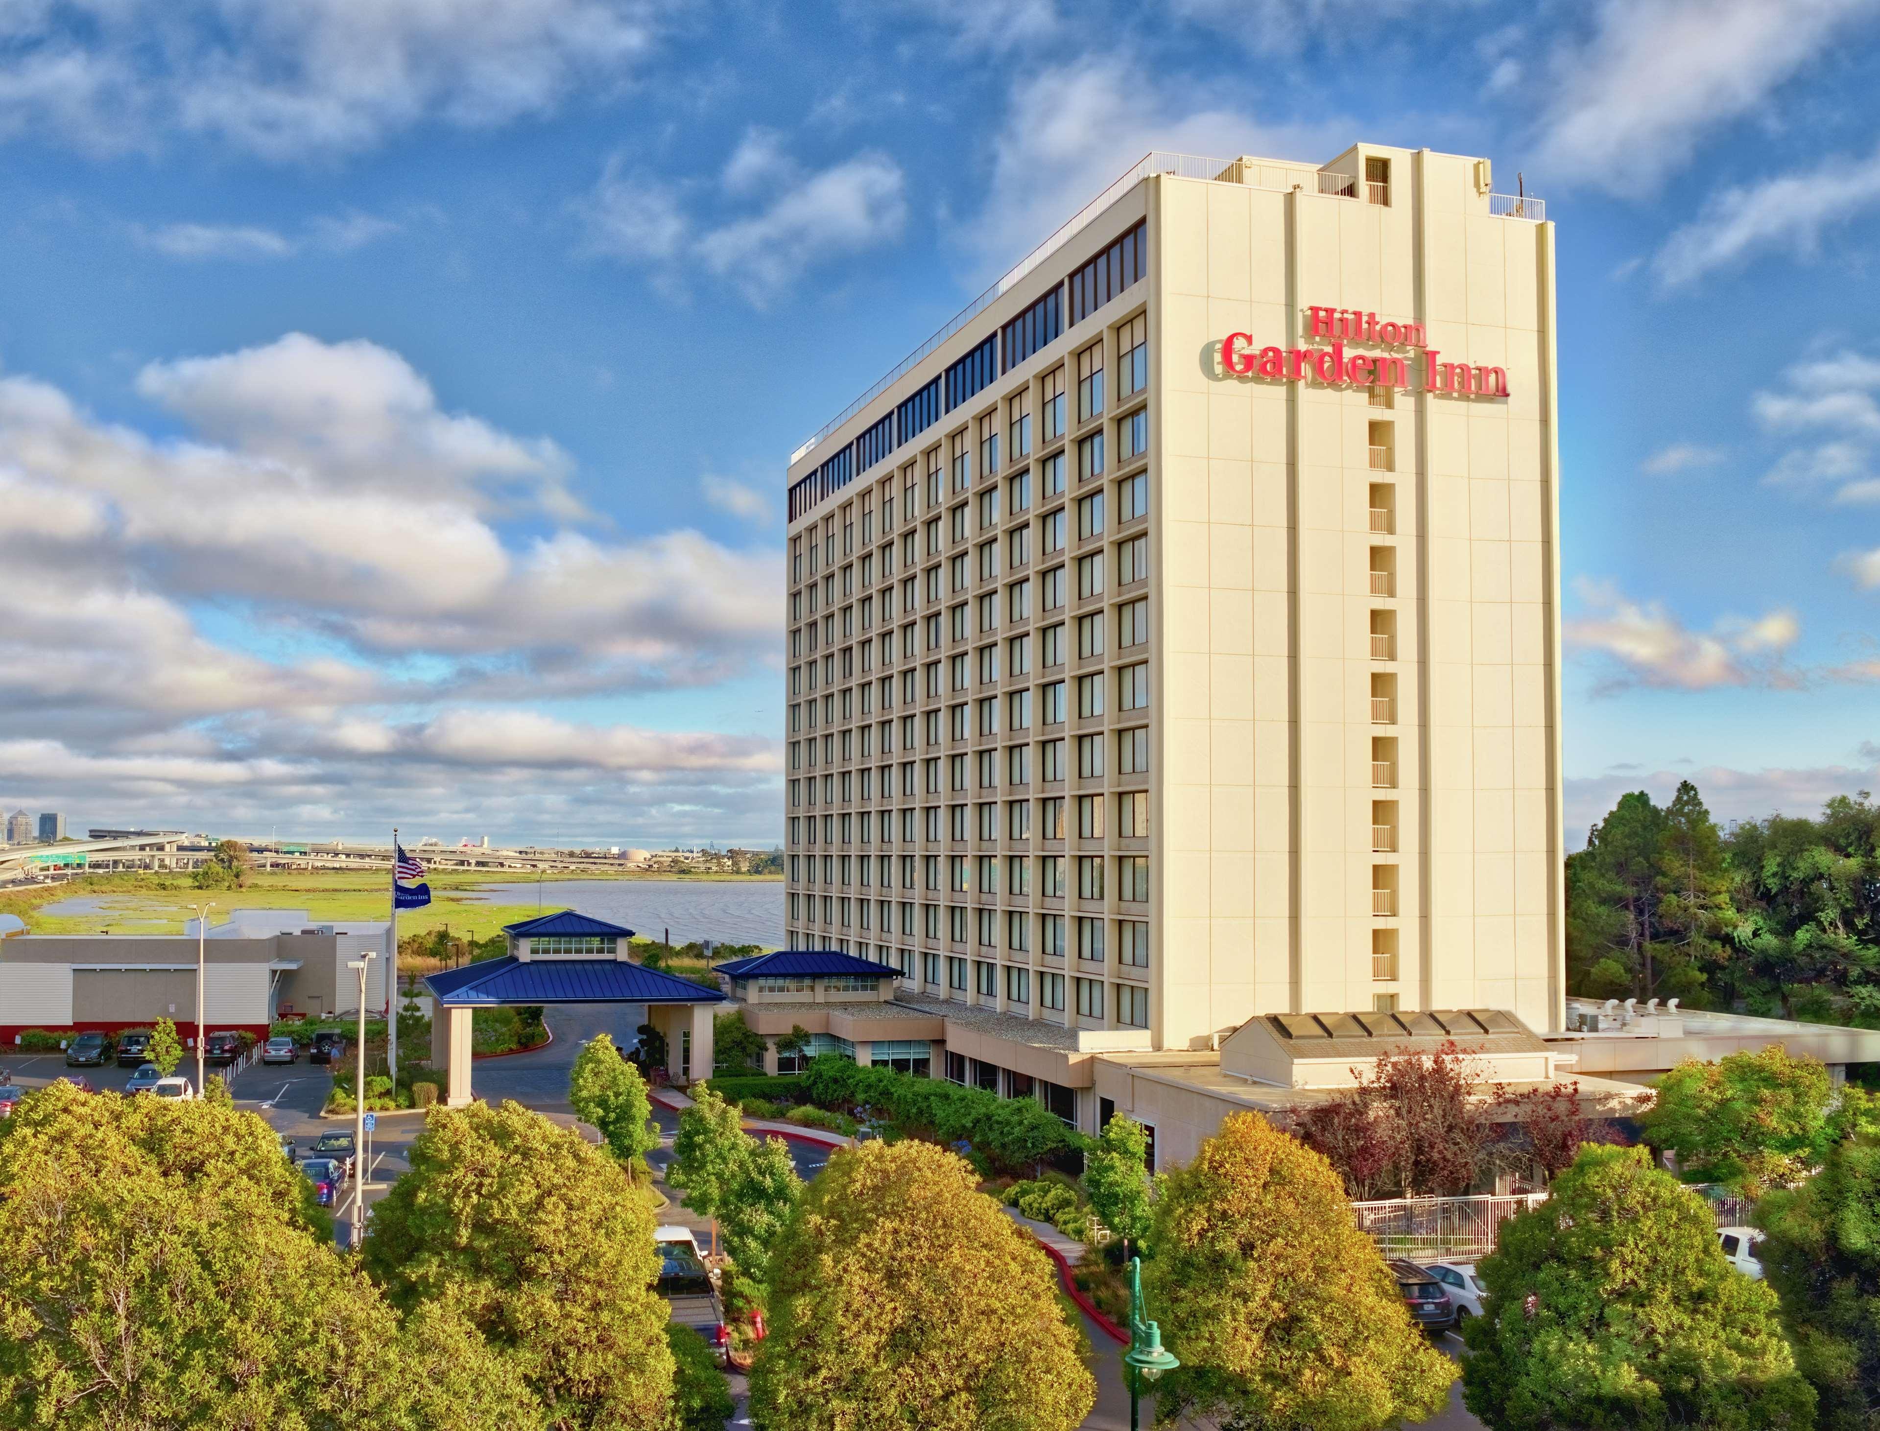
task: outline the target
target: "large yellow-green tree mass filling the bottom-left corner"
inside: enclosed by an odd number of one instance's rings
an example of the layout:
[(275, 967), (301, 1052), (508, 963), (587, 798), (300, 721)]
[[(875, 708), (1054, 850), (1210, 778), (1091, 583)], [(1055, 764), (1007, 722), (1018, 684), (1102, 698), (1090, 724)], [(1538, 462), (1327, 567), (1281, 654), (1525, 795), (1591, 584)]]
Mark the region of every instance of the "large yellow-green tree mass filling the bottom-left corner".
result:
[(541, 1425), (461, 1318), (399, 1324), (252, 1113), (55, 1083), (0, 1187), (4, 1425)]

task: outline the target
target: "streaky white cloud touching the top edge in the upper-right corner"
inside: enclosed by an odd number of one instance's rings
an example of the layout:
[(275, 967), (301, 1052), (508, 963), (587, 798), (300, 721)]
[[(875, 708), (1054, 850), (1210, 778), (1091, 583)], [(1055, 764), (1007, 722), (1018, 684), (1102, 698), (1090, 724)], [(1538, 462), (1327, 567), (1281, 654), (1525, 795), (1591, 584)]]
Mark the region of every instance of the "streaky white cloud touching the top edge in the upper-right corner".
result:
[(1602, 0), (1551, 58), (1532, 167), (1636, 196), (1874, 11), (1874, 0)]

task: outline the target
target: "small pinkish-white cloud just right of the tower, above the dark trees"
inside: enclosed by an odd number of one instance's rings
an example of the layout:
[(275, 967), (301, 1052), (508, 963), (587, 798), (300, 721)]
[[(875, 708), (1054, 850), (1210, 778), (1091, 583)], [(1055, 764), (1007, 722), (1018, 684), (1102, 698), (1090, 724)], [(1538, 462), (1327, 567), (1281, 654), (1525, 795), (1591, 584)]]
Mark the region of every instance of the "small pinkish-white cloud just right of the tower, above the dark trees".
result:
[(1611, 583), (1581, 581), (1575, 590), (1589, 615), (1566, 621), (1562, 634), (1572, 649), (1609, 658), (1615, 673), (1604, 690), (1795, 686), (1803, 679), (1784, 660), (1801, 636), (1792, 611), (1728, 617), (1709, 632), (1694, 632), (1662, 604), (1628, 600)]

